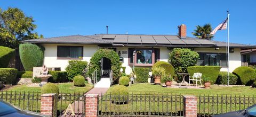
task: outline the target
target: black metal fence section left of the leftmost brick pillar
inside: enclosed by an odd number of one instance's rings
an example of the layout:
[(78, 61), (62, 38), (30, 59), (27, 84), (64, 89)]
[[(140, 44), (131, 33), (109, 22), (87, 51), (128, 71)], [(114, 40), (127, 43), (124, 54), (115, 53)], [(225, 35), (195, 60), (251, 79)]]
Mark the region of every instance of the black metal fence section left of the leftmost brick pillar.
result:
[(22, 110), (39, 112), (41, 107), (41, 93), (1, 91), (0, 99), (9, 102)]

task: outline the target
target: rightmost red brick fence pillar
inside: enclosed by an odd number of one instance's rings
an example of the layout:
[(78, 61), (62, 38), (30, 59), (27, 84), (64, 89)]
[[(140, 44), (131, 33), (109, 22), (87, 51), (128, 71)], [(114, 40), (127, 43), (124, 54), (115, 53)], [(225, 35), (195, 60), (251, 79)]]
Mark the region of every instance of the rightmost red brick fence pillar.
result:
[(197, 116), (197, 97), (192, 95), (183, 95), (184, 99), (184, 117)]

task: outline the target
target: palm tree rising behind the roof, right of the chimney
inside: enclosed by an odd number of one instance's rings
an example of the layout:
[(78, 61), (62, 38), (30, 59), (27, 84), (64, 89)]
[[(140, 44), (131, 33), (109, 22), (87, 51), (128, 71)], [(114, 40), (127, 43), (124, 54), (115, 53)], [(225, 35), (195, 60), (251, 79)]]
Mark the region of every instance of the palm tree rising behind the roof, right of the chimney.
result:
[(212, 40), (213, 38), (213, 34), (210, 34), (212, 32), (211, 24), (204, 24), (203, 26), (197, 25), (194, 31), (195, 32), (192, 32), (192, 34), (198, 39)]

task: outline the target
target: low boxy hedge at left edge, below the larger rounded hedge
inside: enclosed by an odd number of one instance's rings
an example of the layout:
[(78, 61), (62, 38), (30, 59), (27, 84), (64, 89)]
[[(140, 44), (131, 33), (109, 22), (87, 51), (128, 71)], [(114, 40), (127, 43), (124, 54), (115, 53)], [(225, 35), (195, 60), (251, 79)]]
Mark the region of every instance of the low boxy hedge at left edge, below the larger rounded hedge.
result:
[(17, 83), (17, 69), (14, 68), (0, 68), (0, 82), (4, 84)]

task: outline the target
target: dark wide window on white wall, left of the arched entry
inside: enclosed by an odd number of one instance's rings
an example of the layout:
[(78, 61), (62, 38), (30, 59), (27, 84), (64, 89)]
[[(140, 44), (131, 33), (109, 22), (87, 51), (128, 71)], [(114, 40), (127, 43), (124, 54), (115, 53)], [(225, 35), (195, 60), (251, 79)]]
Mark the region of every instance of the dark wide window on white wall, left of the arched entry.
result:
[(82, 59), (83, 58), (83, 47), (82, 46), (58, 46), (57, 57), (58, 58)]

